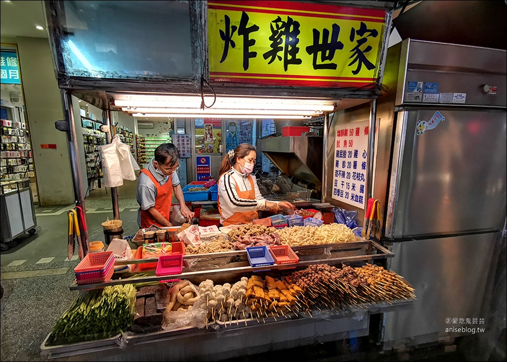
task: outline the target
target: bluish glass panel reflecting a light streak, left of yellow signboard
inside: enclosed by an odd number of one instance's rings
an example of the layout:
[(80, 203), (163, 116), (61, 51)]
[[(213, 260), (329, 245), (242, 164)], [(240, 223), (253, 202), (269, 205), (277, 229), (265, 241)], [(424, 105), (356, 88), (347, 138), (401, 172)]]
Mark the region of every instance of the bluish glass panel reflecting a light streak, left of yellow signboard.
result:
[(67, 76), (192, 78), (188, 1), (64, 1)]

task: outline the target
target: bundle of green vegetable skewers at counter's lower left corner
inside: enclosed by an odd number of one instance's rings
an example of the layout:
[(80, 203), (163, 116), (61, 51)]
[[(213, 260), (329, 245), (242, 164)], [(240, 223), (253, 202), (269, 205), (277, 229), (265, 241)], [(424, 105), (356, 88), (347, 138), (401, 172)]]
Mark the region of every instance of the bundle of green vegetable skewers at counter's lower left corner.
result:
[(136, 289), (131, 284), (107, 286), (79, 296), (51, 331), (53, 344), (110, 338), (132, 325)]

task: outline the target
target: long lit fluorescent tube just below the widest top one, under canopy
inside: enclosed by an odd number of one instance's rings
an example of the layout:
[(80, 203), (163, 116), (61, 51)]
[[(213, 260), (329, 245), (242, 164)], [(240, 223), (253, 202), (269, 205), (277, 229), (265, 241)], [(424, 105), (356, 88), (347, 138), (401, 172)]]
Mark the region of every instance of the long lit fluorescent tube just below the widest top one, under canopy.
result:
[(194, 115), (207, 116), (208, 114), (223, 114), (223, 115), (236, 115), (241, 117), (242, 115), (277, 115), (277, 116), (320, 116), (322, 111), (288, 111), (288, 110), (255, 110), (255, 109), (246, 109), (246, 110), (234, 110), (228, 108), (205, 108), (205, 110), (201, 110), (200, 108), (141, 108), (141, 107), (123, 107), (122, 111), (128, 113), (158, 113), (158, 114), (182, 114), (182, 113), (191, 113)]

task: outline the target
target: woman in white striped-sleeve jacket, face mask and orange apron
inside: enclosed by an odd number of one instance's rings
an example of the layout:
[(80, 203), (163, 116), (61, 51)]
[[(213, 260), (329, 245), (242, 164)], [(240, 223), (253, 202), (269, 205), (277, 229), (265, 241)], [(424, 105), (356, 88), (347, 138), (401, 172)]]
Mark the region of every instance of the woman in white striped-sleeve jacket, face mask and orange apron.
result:
[(259, 219), (259, 210), (295, 209), (287, 201), (268, 201), (262, 197), (255, 176), (251, 175), (257, 159), (255, 147), (241, 143), (222, 160), (219, 179), (221, 224), (242, 225)]

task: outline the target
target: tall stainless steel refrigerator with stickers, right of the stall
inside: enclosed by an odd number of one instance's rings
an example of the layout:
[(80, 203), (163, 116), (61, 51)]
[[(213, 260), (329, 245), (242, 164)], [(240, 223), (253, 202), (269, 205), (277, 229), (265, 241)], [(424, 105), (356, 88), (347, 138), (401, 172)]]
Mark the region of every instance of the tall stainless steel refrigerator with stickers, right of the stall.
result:
[(374, 197), (395, 254), (387, 266), (418, 300), (385, 314), (386, 348), (487, 328), (506, 210), (506, 69), (503, 50), (413, 40), (388, 50)]

